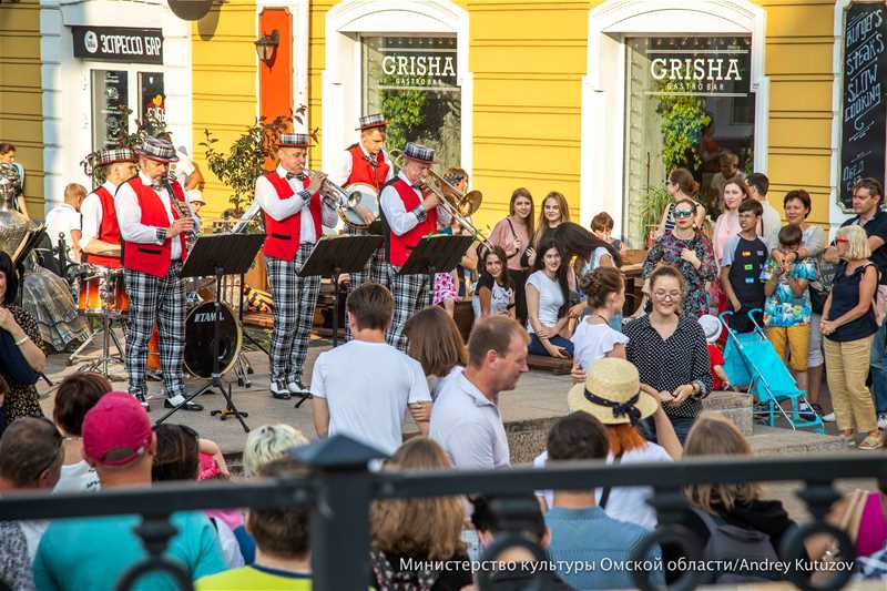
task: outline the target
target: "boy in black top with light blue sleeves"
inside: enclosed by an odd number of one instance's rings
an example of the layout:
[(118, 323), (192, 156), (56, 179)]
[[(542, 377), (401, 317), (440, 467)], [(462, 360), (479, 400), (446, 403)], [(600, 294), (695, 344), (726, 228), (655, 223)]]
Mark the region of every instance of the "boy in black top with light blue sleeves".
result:
[(730, 302), (730, 327), (738, 333), (754, 329), (748, 312), (763, 309), (766, 295), (761, 273), (767, 262), (767, 246), (757, 235), (764, 214), (761, 202), (745, 200), (740, 204), (740, 233), (724, 243), (721, 262), (721, 286)]

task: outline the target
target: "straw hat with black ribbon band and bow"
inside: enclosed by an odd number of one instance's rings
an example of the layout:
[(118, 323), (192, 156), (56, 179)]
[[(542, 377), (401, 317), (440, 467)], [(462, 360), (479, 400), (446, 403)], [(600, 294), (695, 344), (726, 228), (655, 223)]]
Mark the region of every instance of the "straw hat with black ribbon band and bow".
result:
[(594, 361), (585, 383), (570, 389), (567, 406), (570, 412), (583, 410), (604, 425), (636, 425), (659, 407), (652, 396), (641, 391), (638, 368), (615, 357)]

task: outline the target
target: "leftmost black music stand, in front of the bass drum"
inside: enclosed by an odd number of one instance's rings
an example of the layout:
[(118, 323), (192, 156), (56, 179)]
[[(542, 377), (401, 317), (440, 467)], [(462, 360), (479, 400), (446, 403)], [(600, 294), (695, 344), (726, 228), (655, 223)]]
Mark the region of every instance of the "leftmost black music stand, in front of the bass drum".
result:
[(234, 406), (234, 400), (231, 397), (231, 384), (225, 389), (225, 384), (222, 383), (222, 376), (218, 367), (218, 340), (220, 340), (220, 324), (222, 317), (222, 277), (224, 275), (238, 275), (246, 273), (253, 259), (262, 248), (262, 243), (265, 242), (265, 234), (214, 234), (211, 236), (198, 236), (194, 241), (194, 245), (188, 252), (187, 261), (182, 267), (180, 276), (186, 277), (205, 277), (215, 276), (215, 314), (213, 315), (213, 374), (210, 381), (201, 389), (187, 395), (185, 403), (173, 408), (160, 419), (155, 425), (160, 425), (170, 418), (175, 411), (182, 408), (185, 404), (190, 403), (201, 394), (217, 388), (225, 397), (227, 403), (224, 410), (213, 410), (212, 416), (218, 415), (218, 418), (225, 420), (230, 416), (234, 416), (241, 421), (243, 430), (248, 432), (249, 427), (243, 420), (243, 417), (248, 416), (247, 412), (237, 410)]

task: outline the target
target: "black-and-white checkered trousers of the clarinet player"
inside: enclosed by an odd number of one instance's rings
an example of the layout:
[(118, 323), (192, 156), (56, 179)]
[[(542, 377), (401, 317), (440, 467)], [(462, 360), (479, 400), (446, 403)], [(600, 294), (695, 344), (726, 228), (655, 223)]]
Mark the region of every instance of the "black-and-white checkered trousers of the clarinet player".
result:
[(185, 394), (182, 369), (185, 359), (185, 293), (179, 277), (181, 271), (182, 263), (179, 261), (170, 265), (170, 271), (163, 278), (141, 271), (124, 271), (123, 279), (130, 297), (125, 365), (132, 395), (147, 396), (147, 342), (155, 319), (160, 337), (163, 388), (167, 397)]

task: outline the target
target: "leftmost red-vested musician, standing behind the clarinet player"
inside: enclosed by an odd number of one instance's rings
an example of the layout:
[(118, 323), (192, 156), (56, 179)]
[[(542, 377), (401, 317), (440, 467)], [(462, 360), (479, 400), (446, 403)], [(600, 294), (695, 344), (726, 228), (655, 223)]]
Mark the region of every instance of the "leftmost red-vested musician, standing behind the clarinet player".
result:
[(80, 205), (83, 218), (80, 247), (85, 262), (108, 268), (120, 268), (120, 226), (114, 208), (114, 193), (135, 176), (135, 154), (129, 147), (102, 150), (95, 164), (104, 172), (104, 183), (86, 195)]

